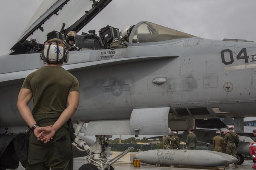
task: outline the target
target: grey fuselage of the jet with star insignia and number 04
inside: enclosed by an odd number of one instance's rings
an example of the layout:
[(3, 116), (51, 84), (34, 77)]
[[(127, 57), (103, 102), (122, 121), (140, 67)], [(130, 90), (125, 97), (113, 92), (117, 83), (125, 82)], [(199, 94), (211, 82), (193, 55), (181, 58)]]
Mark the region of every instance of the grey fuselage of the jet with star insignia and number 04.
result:
[[(133, 109), (152, 107), (171, 107), (186, 119), (255, 117), (255, 54), (253, 42), (198, 37), (70, 52), (63, 67), (80, 83), (80, 103), (72, 120), (130, 119)], [(2, 126), (25, 125), (17, 97), (26, 75), (43, 66), (39, 56), (0, 58)]]

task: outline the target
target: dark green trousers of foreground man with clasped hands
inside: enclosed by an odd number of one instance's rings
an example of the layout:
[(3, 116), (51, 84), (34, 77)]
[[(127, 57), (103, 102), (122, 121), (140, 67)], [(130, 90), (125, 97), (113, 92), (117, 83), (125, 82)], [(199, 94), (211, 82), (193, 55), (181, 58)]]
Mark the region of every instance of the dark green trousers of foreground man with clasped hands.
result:
[[(40, 126), (48, 126), (44, 124)], [(48, 143), (37, 140), (33, 132), (29, 136), (26, 170), (73, 170), (73, 153), (68, 126), (63, 125)]]

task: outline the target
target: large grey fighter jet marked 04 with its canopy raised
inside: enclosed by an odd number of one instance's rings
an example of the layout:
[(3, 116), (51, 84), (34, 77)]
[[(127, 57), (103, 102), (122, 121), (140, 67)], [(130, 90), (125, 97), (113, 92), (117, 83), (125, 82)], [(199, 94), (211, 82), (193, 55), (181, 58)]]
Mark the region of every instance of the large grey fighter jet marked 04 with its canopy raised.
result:
[[(110, 1), (47, 1), (12, 52), (0, 57), (0, 152), (8, 135), (26, 129), (17, 97), (25, 77), (44, 66), (39, 60), (43, 43), (78, 32)], [(85, 14), (70, 15), (74, 3), (84, 7), (77, 14)], [(243, 132), (243, 118), (255, 117), (256, 62), (249, 56), (256, 54), (256, 43), (204, 39), (147, 21), (134, 26), (127, 48), (109, 49), (119, 36), (114, 26), (100, 29), (99, 36), (95, 30), (77, 35), (81, 50), (70, 52), (63, 64), (80, 83), (80, 103), (72, 117), (76, 134), (86, 122), (85, 135), (96, 135), (92, 146), (76, 139), (91, 154), (87, 163), (111, 169), (116, 160), (106, 162), (110, 149), (105, 141), (111, 135), (165, 135), (168, 128), (195, 128), (196, 118), (223, 117), (234, 118), (235, 129)]]

